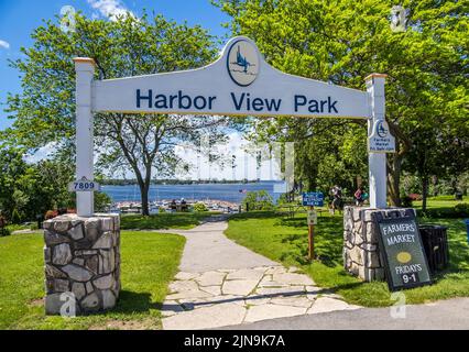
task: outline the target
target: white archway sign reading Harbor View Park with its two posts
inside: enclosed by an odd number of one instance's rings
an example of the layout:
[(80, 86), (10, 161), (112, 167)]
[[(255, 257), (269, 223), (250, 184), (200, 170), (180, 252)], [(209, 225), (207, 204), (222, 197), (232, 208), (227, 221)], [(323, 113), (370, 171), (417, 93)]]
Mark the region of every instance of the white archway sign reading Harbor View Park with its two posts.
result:
[[(384, 75), (367, 91), (284, 74), (248, 37), (231, 38), (212, 64), (190, 70), (92, 80), (95, 62), (75, 58), (76, 179), (92, 180), (92, 112), (357, 118), (384, 121)], [(386, 205), (385, 155), (370, 152), (370, 202)], [(92, 191), (77, 194), (77, 213), (94, 213)]]

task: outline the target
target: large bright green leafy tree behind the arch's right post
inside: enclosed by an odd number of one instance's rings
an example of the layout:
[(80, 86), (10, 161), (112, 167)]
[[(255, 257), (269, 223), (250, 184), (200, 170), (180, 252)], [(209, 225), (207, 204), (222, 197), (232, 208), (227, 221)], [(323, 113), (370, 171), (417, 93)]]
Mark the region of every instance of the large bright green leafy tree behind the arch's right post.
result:
[[(404, 32), (390, 29), (395, 2), (388, 0), (214, 2), (232, 18), (231, 31), (253, 38), (265, 59), (283, 72), (358, 89), (364, 89), (363, 79), (371, 73), (389, 75), (386, 120), (397, 144), (388, 157), (392, 205), (400, 205), (402, 165), (421, 129), (467, 135), (469, 20), (463, 1), (403, 1), (408, 10)], [(286, 119), (263, 123), (258, 125), (268, 134), (294, 130), (304, 136), (313, 135), (314, 127), (336, 124)], [(315, 153), (315, 147), (309, 151)], [(336, 156), (329, 160), (336, 163)], [(359, 156), (363, 165), (364, 156)]]

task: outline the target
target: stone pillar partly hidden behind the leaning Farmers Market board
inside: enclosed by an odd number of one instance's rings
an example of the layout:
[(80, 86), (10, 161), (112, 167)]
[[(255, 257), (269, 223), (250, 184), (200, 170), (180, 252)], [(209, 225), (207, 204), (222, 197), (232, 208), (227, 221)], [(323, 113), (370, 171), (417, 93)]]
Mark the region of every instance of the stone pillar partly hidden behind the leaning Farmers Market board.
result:
[(373, 213), (378, 212), (383, 218), (415, 216), (415, 209), (412, 208), (345, 207), (343, 266), (366, 282), (383, 280), (385, 274), (378, 240), (379, 229), (373, 221)]

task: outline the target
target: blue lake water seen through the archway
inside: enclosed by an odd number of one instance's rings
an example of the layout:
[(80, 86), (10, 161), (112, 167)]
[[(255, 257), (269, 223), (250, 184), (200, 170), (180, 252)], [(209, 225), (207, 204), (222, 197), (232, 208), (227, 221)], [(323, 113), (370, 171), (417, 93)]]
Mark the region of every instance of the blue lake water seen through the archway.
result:
[[(274, 193), (274, 184), (277, 183), (255, 183), (255, 184), (195, 184), (195, 185), (151, 185), (149, 198), (150, 201), (160, 201), (163, 199), (217, 199), (231, 202), (241, 202), (246, 197), (242, 190), (265, 189), (273, 198), (277, 200), (280, 194)], [(240, 191), (241, 190), (241, 191)], [(101, 186), (101, 191), (111, 197), (112, 201), (141, 201), (140, 189), (138, 185), (126, 186)]]

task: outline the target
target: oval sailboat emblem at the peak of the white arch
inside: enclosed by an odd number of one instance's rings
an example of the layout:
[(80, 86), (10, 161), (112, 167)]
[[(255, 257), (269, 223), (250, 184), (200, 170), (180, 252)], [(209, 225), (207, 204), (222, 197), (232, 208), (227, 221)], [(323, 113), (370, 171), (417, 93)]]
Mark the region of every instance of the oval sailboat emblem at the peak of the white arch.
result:
[(239, 86), (246, 87), (258, 77), (259, 58), (255, 47), (246, 40), (234, 42), (227, 57), (228, 73)]

